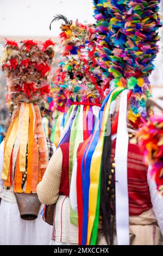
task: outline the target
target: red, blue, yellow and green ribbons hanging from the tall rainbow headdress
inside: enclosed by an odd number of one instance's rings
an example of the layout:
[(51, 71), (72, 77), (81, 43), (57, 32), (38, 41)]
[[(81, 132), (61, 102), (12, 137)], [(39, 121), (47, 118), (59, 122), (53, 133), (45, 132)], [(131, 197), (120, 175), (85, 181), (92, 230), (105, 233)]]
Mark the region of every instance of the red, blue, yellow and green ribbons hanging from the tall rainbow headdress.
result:
[[(104, 135), (109, 117), (110, 103), (115, 100), (116, 96), (123, 90), (123, 87), (118, 87), (112, 90), (106, 97), (96, 121), (95, 130), (85, 142), (84, 152), (82, 152), (82, 154), (79, 153), (78, 156), (78, 161), (81, 163), (81, 166), (78, 167), (78, 174), (79, 177), (80, 175), (82, 176), (83, 191), (82, 198), (80, 198), (81, 193), (77, 191), (78, 204), (83, 204), (78, 205), (78, 215), (80, 216), (80, 221), (82, 221), (82, 225), (79, 227), (79, 244), (82, 245), (89, 245), (90, 243), (96, 244)], [(80, 210), (83, 210), (82, 214)], [(82, 235), (80, 235), (81, 233)], [(91, 237), (92, 234), (93, 236)]]

